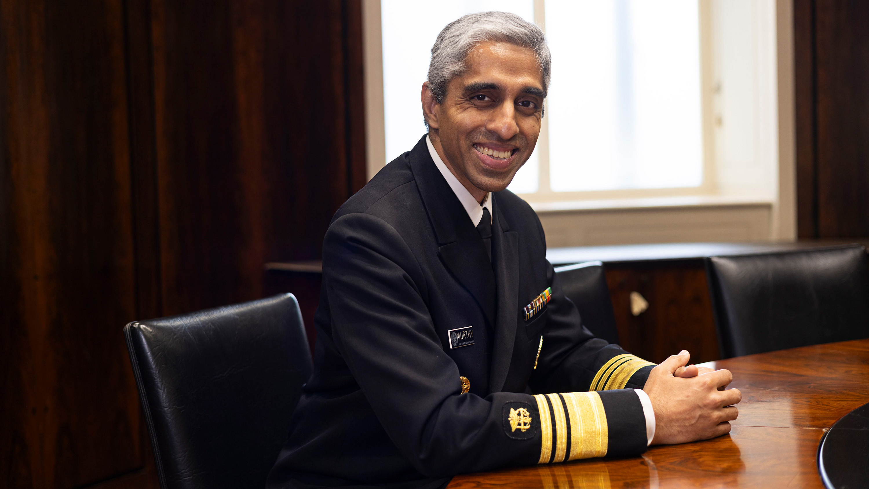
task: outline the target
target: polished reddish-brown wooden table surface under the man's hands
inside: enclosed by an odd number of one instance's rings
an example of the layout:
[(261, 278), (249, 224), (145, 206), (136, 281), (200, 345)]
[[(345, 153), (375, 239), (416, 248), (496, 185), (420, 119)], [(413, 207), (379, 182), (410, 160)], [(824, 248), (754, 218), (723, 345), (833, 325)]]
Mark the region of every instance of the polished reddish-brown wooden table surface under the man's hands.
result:
[(869, 402), (869, 340), (842, 341), (712, 361), (742, 391), (730, 434), (653, 446), (640, 457), (587, 459), (456, 476), (470, 487), (824, 487), (818, 443)]

